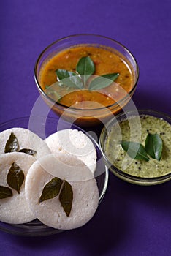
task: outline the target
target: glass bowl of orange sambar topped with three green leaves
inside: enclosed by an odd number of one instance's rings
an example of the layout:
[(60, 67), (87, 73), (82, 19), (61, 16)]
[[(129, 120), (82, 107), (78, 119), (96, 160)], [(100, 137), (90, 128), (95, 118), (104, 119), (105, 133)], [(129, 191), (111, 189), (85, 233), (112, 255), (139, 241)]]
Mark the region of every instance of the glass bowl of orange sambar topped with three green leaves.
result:
[(95, 34), (75, 34), (47, 46), (34, 67), (47, 105), (80, 127), (104, 124), (121, 112), (137, 88), (139, 69), (121, 43)]

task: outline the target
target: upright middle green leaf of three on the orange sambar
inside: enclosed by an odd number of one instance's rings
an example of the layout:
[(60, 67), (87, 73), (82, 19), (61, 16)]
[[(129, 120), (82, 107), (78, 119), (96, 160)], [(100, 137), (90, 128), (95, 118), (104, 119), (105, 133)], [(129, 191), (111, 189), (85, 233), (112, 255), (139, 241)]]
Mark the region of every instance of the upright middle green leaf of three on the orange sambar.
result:
[(89, 56), (82, 57), (77, 63), (76, 70), (80, 75), (86, 75), (88, 78), (88, 75), (90, 76), (95, 72), (94, 61)]

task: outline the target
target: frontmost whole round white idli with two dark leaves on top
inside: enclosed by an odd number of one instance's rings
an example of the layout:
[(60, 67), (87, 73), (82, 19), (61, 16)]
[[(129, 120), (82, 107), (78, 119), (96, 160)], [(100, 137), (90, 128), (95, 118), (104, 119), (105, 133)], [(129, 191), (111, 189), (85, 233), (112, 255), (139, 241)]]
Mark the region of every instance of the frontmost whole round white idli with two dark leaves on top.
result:
[[(77, 174), (86, 173), (87, 180), (73, 181), (74, 163), (76, 169), (80, 168)], [(53, 168), (56, 176), (51, 174)], [(28, 204), (37, 219), (57, 229), (70, 230), (85, 225), (99, 203), (93, 173), (80, 159), (69, 154), (50, 154), (34, 162), (25, 188)]]

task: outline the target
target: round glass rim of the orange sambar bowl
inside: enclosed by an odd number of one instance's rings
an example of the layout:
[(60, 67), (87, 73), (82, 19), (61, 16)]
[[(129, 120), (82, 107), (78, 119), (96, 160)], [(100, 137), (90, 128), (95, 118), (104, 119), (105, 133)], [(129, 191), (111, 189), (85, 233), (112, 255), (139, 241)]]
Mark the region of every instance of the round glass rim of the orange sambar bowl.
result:
[[(107, 105), (106, 107), (102, 107), (102, 108), (96, 108), (96, 109), (91, 109), (91, 108), (86, 108), (86, 109), (82, 109), (82, 108), (73, 108), (73, 107), (68, 107), (66, 105), (63, 105), (61, 104), (60, 102), (56, 102), (54, 99), (50, 98), (46, 93), (45, 91), (42, 89), (42, 86), (40, 86), (39, 84), (39, 79), (37, 77), (37, 66), (38, 66), (38, 63), (39, 63), (39, 60), (41, 59), (42, 55), (46, 52), (46, 50), (50, 49), (51, 47), (53, 47), (53, 45), (56, 45), (57, 43), (60, 43), (66, 39), (70, 39), (70, 38), (75, 38), (75, 37), (96, 37), (96, 38), (101, 38), (101, 39), (107, 39), (111, 42), (114, 42), (115, 44), (117, 44), (118, 46), (120, 46), (121, 48), (123, 48), (124, 50), (126, 50), (127, 53), (129, 53), (129, 56), (132, 57), (132, 59), (134, 60), (134, 63), (135, 63), (135, 66), (136, 66), (136, 71), (137, 71), (137, 78), (135, 78), (135, 83), (134, 83), (134, 86), (132, 87), (131, 91), (129, 91), (129, 93), (126, 94), (125, 97), (123, 97), (122, 99), (118, 100), (118, 102), (115, 102), (111, 105)], [(75, 44), (76, 45), (76, 44)], [(131, 95), (134, 93), (134, 90), (136, 89), (137, 87), (137, 82), (139, 80), (139, 73), (140, 73), (140, 70), (139, 70), (139, 66), (137, 64), (137, 60), (135, 59), (134, 55), (132, 54), (132, 52), (126, 48), (126, 46), (124, 46), (123, 44), (121, 44), (121, 42), (118, 42), (117, 40), (113, 39), (113, 38), (110, 38), (110, 37), (106, 37), (106, 36), (102, 36), (102, 35), (99, 35), (99, 34), (86, 34), (86, 33), (83, 33), (83, 34), (71, 34), (69, 36), (66, 36), (66, 37), (62, 37), (61, 39), (57, 39), (56, 41), (50, 43), (50, 45), (47, 45), (46, 48), (44, 48), (44, 50), (42, 50), (41, 53), (39, 53), (39, 56), (37, 58), (37, 61), (34, 65), (34, 81), (37, 85), (37, 89), (38, 91), (40, 92), (40, 94), (42, 94), (45, 98), (48, 99), (48, 101), (50, 101), (53, 105), (59, 105), (61, 108), (66, 108), (66, 109), (71, 109), (73, 111), (77, 111), (77, 110), (80, 110), (80, 111), (94, 111), (94, 110), (103, 110), (105, 108), (112, 108), (112, 107), (117, 107), (118, 105), (121, 105), (122, 102), (124, 102), (127, 98), (131, 97)]]

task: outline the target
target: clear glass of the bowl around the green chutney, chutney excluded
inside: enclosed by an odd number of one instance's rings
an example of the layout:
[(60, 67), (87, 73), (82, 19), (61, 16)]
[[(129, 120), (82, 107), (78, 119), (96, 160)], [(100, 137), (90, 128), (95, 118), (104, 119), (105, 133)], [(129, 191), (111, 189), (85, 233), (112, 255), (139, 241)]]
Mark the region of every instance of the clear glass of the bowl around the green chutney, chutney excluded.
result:
[[(155, 185), (155, 184), (161, 184), (164, 183), (165, 181), (170, 181), (171, 179), (171, 170), (170, 173), (164, 176), (156, 176), (152, 178), (145, 178), (145, 177), (137, 177), (137, 176), (132, 176), (128, 173), (123, 172), (122, 170), (119, 170), (117, 167), (115, 167), (110, 160), (107, 158), (105, 154), (105, 149), (104, 149), (104, 143), (107, 138), (107, 133), (110, 131), (110, 128), (113, 127), (116, 123), (119, 123), (120, 121), (124, 121), (128, 119), (130, 116), (153, 116), (156, 118), (162, 118), (165, 121), (167, 121), (171, 125), (171, 117), (167, 116), (164, 113), (153, 111), (153, 110), (139, 110), (138, 113), (137, 111), (130, 111), (127, 113), (120, 113), (115, 118), (111, 119), (102, 129), (100, 138), (99, 138), (99, 146), (102, 151), (102, 155), (104, 157), (104, 162), (106, 163), (107, 167), (109, 170), (115, 174), (115, 176), (118, 176), (118, 178), (123, 179), (124, 181), (128, 181), (129, 183), (132, 184), (138, 184), (138, 185)], [(171, 158), (171, 155), (170, 155)]]

